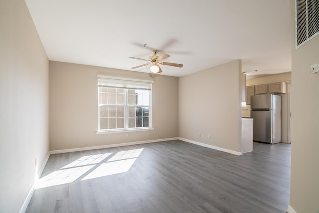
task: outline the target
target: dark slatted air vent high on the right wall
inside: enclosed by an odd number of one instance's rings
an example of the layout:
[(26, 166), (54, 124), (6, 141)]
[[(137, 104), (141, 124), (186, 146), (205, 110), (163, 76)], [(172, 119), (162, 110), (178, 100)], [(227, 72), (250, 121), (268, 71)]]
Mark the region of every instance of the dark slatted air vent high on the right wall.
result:
[(296, 46), (319, 34), (319, 0), (296, 0)]

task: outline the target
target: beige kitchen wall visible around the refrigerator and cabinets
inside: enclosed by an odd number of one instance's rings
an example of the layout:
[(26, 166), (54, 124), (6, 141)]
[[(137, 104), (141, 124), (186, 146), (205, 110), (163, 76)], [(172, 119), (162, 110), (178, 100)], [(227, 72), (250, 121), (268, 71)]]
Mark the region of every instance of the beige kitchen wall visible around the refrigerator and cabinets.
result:
[[(262, 78), (251, 78), (247, 79), (246, 85), (258, 85), (258, 84), (268, 84), (275, 82), (288, 82), (291, 81), (291, 72), (286, 72), (278, 75), (271, 75)], [(286, 84), (287, 86), (287, 84)], [(288, 109), (288, 88), (286, 88), (286, 94), (279, 94), (281, 96), (281, 142), (288, 143), (288, 128), (289, 128), (289, 109)], [(250, 109), (250, 105), (247, 105), (247, 109)], [(243, 109), (243, 115), (249, 115), (250, 111)]]

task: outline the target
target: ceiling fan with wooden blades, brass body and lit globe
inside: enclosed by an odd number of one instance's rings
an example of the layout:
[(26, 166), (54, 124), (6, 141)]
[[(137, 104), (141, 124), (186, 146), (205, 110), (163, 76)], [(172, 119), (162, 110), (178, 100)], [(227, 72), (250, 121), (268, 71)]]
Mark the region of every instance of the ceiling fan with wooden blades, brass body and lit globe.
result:
[(141, 60), (141, 61), (147, 61), (146, 64), (142, 64), (139, 66), (135, 66), (132, 67), (131, 69), (136, 69), (136, 68), (140, 68), (142, 66), (147, 66), (149, 64), (152, 64), (152, 66), (150, 67), (151, 72), (153, 73), (161, 73), (163, 72), (160, 68), (160, 65), (167, 65), (167, 66), (175, 66), (175, 67), (183, 67), (182, 64), (175, 64), (175, 63), (168, 63), (168, 62), (163, 62), (162, 60), (165, 60), (166, 58), (169, 58), (170, 55), (163, 53), (162, 55), (158, 56), (158, 50), (153, 50), (153, 55), (149, 56), (149, 59), (142, 59), (142, 58), (135, 58), (135, 57), (129, 57), (132, 59), (137, 59), (137, 60)]

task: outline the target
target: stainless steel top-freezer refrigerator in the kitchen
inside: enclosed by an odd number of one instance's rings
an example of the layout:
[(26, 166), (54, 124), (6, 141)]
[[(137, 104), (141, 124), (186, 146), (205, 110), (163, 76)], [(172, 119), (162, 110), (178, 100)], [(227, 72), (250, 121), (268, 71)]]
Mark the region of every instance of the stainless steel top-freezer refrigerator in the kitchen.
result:
[(281, 96), (251, 96), (253, 140), (270, 144), (281, 142)]

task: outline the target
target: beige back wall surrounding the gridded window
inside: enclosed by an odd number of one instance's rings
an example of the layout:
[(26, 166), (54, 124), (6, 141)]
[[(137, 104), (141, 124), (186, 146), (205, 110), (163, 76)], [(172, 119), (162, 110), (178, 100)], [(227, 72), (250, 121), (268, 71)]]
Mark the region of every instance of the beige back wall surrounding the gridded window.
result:
[[(154, 80), (154, 131), (96, 135), (97, 75)], [(50, 61), (50, 150), (178, 137), (178, 78)]]

